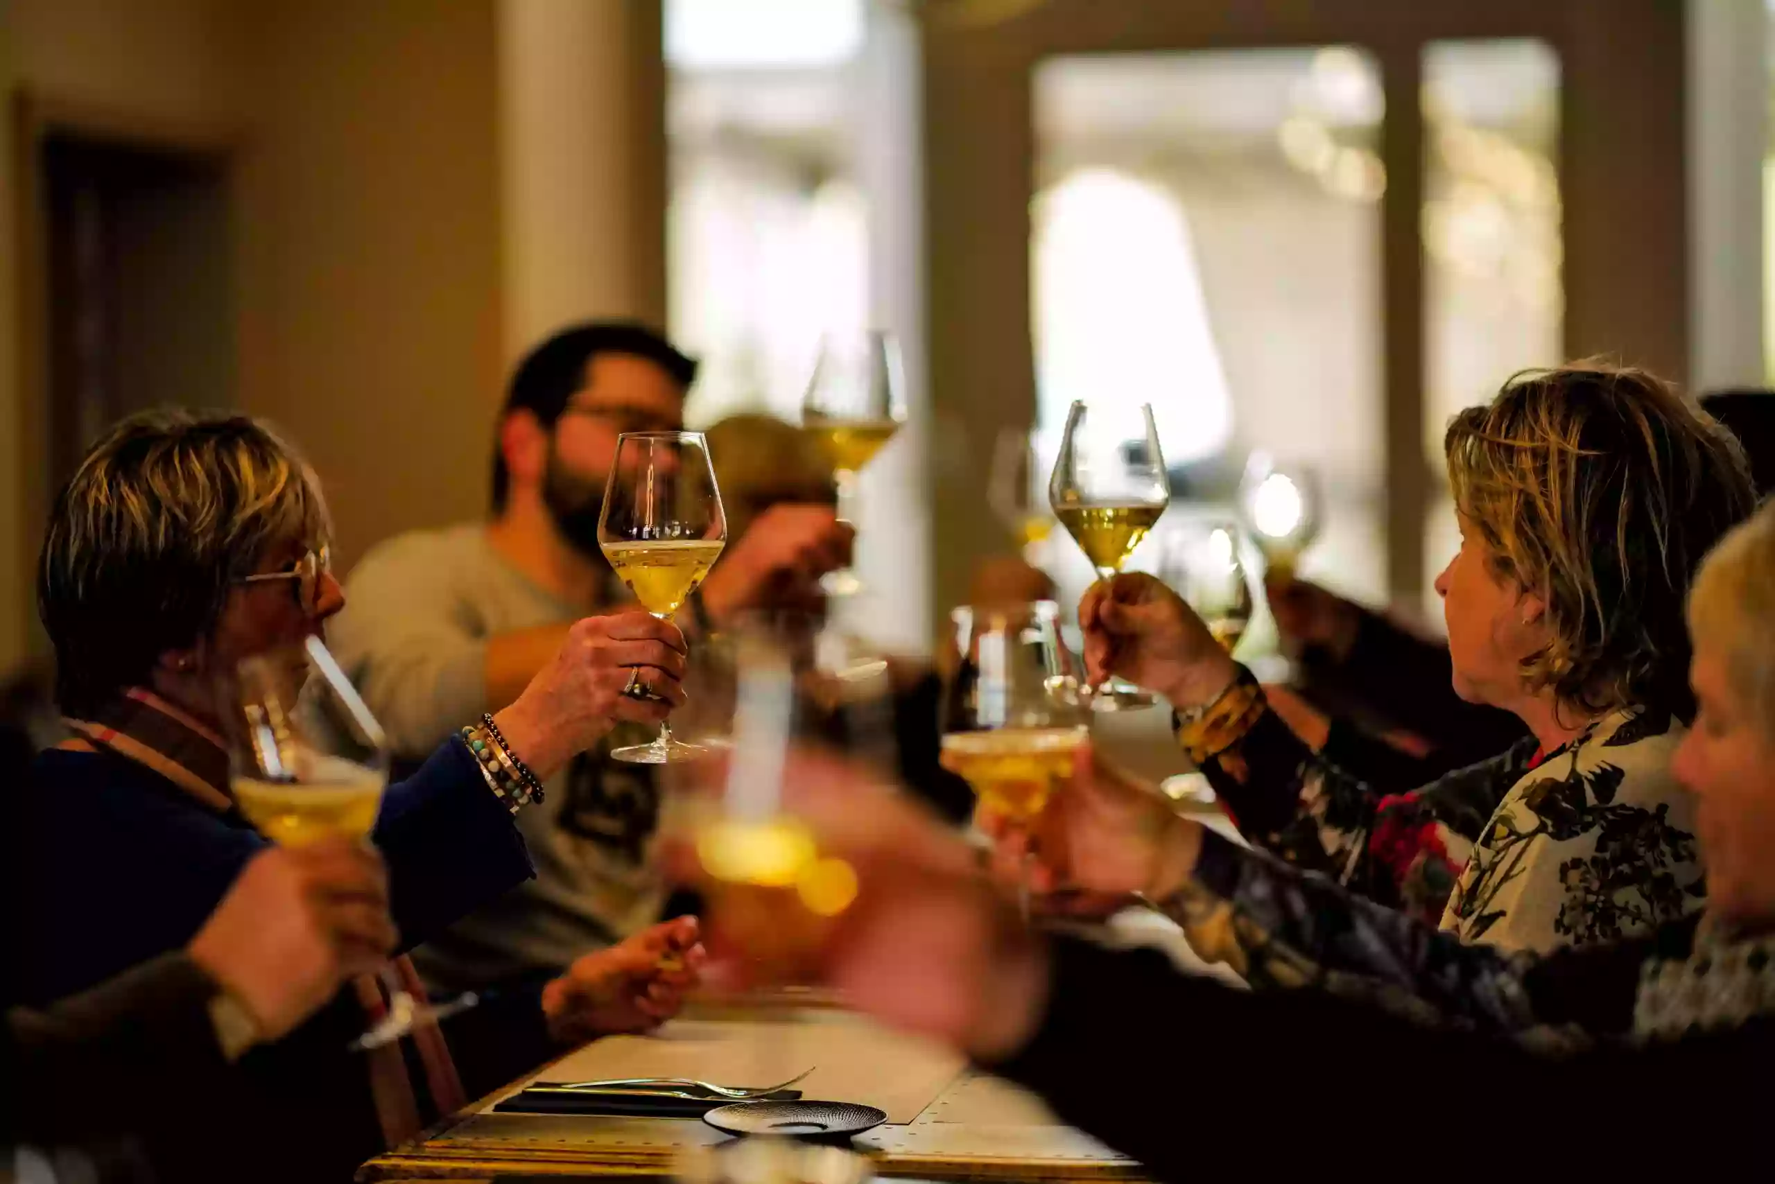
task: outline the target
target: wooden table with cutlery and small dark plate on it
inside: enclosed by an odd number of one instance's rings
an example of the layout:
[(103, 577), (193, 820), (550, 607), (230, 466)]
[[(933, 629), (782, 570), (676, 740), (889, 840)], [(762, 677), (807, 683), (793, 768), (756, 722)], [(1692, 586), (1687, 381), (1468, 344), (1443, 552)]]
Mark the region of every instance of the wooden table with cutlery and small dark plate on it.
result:
[[(493, 1113), (531, 1081), (685, 1076), (770, 1083), (815, 1072), (808, 1099), (880, 1106), (889, 1122), (852, 1147), (877, 1175), (927, 1180), (1138, 1179), (1140, 1166), (1058, 1118), (1035, 1095), (955, 1054), (831, 1008), (765, 1019), (687, 1015), (657, 1037), (612, 1037), (470, 1104), (422, 1140), (380, 1156), (359, 1180), (669, 1179), (726, 1134), (687, 1118)], [(754, 1081), (756, 1077), (756, 1081)]]

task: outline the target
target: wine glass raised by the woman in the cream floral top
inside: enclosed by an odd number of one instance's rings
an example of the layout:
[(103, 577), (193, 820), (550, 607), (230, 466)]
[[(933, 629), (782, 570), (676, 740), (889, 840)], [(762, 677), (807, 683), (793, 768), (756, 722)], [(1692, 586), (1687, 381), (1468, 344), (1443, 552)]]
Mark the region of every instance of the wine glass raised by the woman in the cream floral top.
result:
[[(1047, 481), (1047, 501), (1097, 577), (1113, 579), (1172, 502), (1152, 405), (1141, 403), (1134, 415), (1074, 403)], [(1092, 696), (1092, 706), (1104, 712), (1154, 703), (1150, 694), (1120, 678)]]

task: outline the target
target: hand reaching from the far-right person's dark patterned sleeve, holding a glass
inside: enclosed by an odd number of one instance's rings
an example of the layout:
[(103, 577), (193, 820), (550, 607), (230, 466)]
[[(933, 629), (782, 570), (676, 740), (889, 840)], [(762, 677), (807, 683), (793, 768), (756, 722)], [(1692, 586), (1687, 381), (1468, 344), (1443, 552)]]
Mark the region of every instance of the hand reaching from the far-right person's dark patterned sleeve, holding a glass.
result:
[(992, 875), (1021, 882), (1042, 912), (1100, 920), (1143, 893), (1163, 898), (1195, 868), (1202, 825), (1138, 777), (1109, 767), (1090, 747), (1033, 822), (992, 815), (974, 825), (992, 840)]

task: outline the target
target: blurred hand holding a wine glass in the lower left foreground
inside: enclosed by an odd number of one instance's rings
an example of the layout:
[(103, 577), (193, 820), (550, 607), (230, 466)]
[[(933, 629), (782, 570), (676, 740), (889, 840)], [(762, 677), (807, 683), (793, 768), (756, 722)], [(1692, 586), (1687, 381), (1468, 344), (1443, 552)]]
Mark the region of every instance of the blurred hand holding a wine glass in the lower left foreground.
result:
[(186, 951), (275, 1040), (394, 944), (382, 856), (334, 836), (254, 856)]

